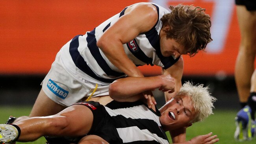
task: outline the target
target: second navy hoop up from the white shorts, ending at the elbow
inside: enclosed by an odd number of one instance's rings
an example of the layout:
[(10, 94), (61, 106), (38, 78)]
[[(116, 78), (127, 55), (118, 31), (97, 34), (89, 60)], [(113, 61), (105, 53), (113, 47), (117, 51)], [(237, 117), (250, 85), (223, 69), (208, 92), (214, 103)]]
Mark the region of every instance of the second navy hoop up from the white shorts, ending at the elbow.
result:
[(108, 64), (106, 63), (106, 61), (102, 57), (102, 55), (100, 54), (100, 50), (99, 50), (99, 48), (96, 44), (97, 41), (96, 41), (96, 38), (95, 38), (95, 29), (91, 32), (87, 32), (86, 41), (88, 42), (87, 46), (88, 46), (91, 54), (93, 55), (94, 59), (97, 61), (100, 68), (102, 68), (102, 70), (108, 76), (123, 76), (124, 75), (124, 73), (120, 73), (120, 72), (116, 72), (116, 71), (112, 70), (108, 66)]

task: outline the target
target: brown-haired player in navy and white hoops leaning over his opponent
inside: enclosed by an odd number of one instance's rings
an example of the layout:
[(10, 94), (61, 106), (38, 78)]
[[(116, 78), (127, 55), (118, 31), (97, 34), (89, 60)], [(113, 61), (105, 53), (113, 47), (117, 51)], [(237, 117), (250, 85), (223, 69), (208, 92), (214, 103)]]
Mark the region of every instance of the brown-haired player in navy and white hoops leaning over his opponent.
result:
[[(115, 79), (143, 77), (136, 66), (157, 65), (181, 86), (182, 54), (204, 50), (211, 21), (205, 9), (170, 6), (171, 13), (153, 3), (124, 8), (92, 31), (65, 44), (45, 79), (30, 117), (56, 114), (90, 96), (108, 95)], [(150, 91), (145, 93), (150, 94)], [(148, 96), (147, 98), (151, 98)], [(149, 105), (151, 105), (151, 100)]]

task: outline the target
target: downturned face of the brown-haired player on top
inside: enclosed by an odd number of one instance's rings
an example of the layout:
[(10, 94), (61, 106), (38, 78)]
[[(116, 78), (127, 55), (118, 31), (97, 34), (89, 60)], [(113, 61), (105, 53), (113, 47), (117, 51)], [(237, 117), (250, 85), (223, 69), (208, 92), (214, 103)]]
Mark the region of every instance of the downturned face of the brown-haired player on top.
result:
[(160, 32), (160, 49), (164, 57), (173, 55), (175, 58), (182, 54), (186, 54), (184, 46), (179, 44), (176, 40), (166, 37), (165, 31)]

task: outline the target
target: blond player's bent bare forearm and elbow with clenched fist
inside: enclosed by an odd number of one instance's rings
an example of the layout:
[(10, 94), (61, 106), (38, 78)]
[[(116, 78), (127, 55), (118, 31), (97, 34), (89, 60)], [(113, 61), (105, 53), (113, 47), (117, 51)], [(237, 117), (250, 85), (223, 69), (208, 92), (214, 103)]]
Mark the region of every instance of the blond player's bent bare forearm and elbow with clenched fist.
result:
[(109, 96), (119, 102), (134, 102), (141, 99), (141, 92), (162, 87), (174, 89), (174, 81), (170, 75), (153, 77), (128, 77), (117, 79), (109, 85)]

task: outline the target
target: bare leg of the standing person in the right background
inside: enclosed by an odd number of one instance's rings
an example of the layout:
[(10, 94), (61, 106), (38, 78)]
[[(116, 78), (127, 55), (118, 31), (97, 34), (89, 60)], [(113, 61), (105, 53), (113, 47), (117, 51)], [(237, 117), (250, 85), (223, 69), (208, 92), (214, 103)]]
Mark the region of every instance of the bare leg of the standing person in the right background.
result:
[(241, 43), (235, 66), (235, 80), (240, 102), (247, 102), (256, 54), (256, 12), (247, 11), (245, 6), (237, 5), (236, 8)]

